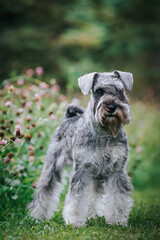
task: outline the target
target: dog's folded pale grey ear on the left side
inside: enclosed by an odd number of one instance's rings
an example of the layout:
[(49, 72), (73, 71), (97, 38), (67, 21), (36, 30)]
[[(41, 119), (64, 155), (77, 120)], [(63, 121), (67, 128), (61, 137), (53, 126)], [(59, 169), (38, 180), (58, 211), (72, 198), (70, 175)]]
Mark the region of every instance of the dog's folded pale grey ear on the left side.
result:
[(93, 81), (97, 75), (97, 72), (88, 73), (80, 78), (78, 78), (78, 85), (84, 95), (87, 95), (92, 89)]

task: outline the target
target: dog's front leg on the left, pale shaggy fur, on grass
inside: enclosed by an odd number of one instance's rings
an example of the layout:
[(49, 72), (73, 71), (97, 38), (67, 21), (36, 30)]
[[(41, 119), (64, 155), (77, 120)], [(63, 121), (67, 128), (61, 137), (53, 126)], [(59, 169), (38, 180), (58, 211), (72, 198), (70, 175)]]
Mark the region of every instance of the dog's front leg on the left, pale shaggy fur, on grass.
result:
[(66, 224), (75, 227), (85, 224), (89, 209), (90, 177), (87, 169), (80, 168), (70, 178), (68, 194), (65, 199), (63, 217)]

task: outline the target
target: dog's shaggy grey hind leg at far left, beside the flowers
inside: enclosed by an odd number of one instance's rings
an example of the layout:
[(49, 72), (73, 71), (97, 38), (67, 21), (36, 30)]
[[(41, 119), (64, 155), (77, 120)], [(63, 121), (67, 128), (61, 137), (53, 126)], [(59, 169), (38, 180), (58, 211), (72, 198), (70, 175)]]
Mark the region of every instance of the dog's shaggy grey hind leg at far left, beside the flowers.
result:
[(57, 209), (59, 197), (65, 183), (64, 161), (60, 150), (54, 151), (50, 146), (43, 171), (38, 182), (33, 201), (29, 205), (30, 215), (36, 219), (51, 218)]

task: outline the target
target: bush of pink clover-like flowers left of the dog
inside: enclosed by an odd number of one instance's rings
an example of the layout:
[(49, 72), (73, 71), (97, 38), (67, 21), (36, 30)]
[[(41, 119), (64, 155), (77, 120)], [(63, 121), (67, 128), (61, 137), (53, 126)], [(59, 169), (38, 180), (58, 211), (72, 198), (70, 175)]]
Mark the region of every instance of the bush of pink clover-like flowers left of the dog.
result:
[[(48, 143), (63, 118), (68, 99), (56, 80), (50, 84), (29, 77), (4, 82), (0, 90), (1, 208), (26, 202), (36, 187)], [(32, 73), (32, 74), (31, 74)], [(35, 70), (42, 77), (43, 68)]]

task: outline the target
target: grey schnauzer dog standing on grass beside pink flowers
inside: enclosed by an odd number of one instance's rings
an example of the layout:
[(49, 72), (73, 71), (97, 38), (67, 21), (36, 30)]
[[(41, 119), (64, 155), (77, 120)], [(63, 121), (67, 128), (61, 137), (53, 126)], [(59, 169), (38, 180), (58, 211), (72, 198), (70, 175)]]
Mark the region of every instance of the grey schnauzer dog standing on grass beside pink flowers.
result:
[(69, 105), (65, 120), (49, 145), (34, 199), (29, 205), (36, 219), (51, 218), (65, 183), (65, 166), (72, 166), (64, 203), (66, 224), (85, 225), (104, 216), (107, 224), (127, 225), (133, 204), (132, 185), (126, 172), (128, 141), (124, 125), (131, 120), (131, 73), (89, 73), (78, 79), (88, 107)]

